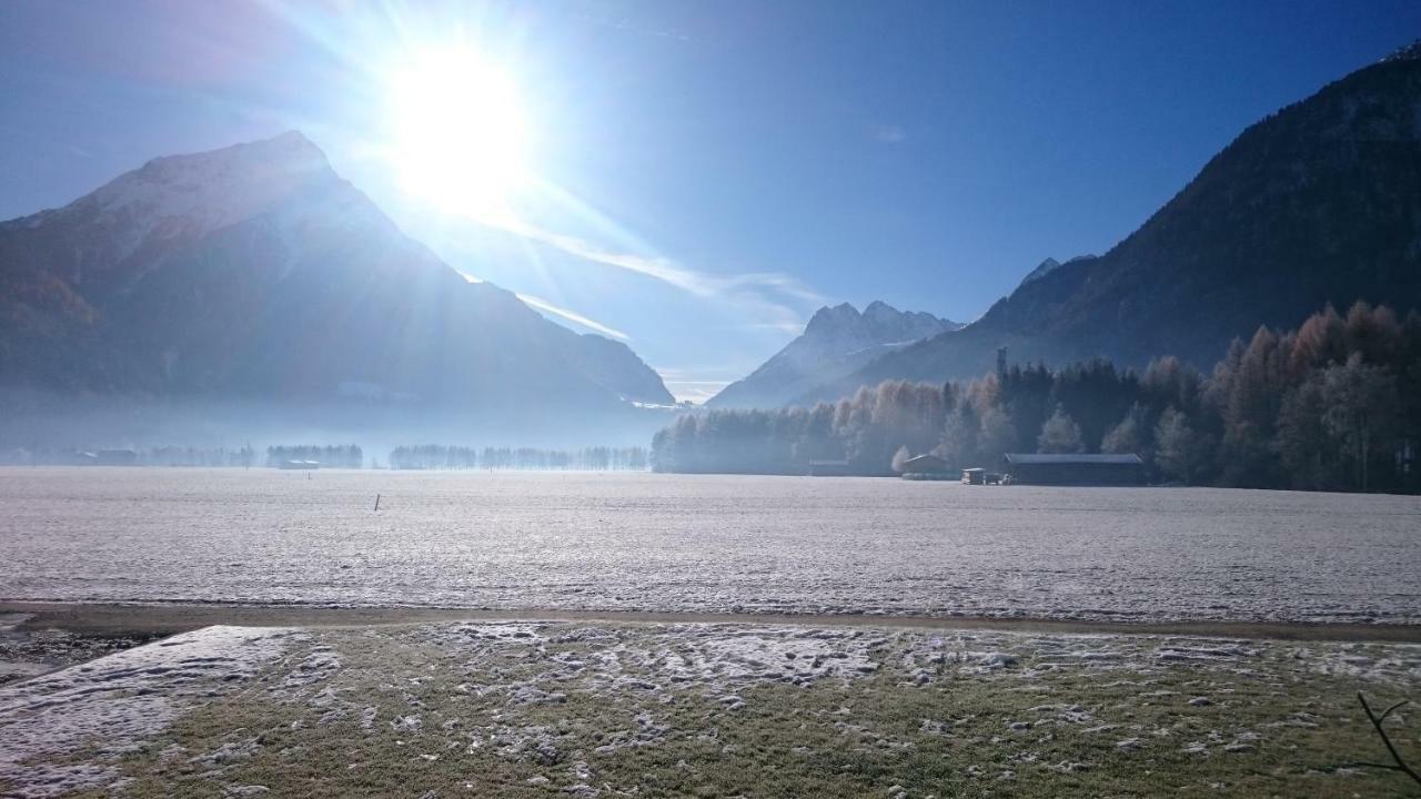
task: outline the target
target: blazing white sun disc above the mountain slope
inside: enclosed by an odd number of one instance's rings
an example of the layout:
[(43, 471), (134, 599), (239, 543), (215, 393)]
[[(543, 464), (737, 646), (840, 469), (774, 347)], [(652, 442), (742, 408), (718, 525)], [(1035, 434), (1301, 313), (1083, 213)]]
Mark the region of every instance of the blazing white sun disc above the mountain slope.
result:
[(391, 158), (405, 191), (446, 212), (504, 210), (527, 179), (519, 91), (470, 48), (428, 50), (391, 73)]

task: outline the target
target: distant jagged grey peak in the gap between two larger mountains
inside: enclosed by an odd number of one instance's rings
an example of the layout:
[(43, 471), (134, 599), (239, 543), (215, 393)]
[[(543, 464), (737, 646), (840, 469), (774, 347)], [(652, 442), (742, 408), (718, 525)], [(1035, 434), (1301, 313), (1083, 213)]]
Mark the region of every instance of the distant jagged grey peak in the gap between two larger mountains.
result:
[(926, 313), (874, 301), (858, 313), (844, 303), (814, 313), (804, 333), (745, 380), (712, 397), (712, 408), (776, 408), (804, 391), (854, 372), (874, 358), (962, 327)]

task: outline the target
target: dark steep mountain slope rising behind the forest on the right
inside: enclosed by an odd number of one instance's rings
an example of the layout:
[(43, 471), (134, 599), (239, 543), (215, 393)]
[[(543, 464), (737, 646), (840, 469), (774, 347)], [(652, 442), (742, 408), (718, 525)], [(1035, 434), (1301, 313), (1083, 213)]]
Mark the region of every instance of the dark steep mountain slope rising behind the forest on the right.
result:
[(1252, 125), (1100, 257), (1047, 262), (978, 321), (801, 395), (1104, 355), (1199, 365), (1331, 303), (1421, 306), (1421, 44)]

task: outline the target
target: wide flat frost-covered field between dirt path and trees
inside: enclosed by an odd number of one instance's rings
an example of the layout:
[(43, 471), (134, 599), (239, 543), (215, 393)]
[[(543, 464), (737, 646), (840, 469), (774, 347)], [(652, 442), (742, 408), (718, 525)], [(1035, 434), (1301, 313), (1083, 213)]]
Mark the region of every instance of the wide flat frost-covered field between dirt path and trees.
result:
[(1417, 624), (1421, 498), (18, 468), (0, 599)]

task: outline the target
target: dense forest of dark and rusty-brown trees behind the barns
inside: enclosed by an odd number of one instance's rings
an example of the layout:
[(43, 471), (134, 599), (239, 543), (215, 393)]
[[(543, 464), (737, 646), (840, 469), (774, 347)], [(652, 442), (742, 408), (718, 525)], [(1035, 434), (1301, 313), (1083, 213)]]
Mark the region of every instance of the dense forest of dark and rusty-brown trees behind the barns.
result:
[(681, 417), (661, 472), (803, 475), (816, 459), (888, 475), (932, 452), (955, 468), (1005, 452), (1137, 452), (1157, 482), (1421, 490), (1421, 316), (1331, 307), (1295, 331), (1235, 340), (1208, 374), (1174, 357), (1013, 365), (969, 382), (887, 381), (836, 404)]

